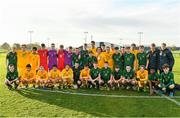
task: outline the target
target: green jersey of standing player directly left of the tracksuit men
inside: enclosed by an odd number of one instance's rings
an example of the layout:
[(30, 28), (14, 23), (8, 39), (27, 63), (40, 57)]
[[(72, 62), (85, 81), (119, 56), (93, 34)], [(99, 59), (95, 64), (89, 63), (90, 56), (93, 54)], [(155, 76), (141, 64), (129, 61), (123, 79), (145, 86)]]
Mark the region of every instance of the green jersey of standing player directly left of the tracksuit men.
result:
[(147, 55), (145, 52), (143, 53), (138, 53), (137, 54), (137, 59), (138, 59), (138, 66), (140, 67), (141, 65), (146, 66), (147, 63)]

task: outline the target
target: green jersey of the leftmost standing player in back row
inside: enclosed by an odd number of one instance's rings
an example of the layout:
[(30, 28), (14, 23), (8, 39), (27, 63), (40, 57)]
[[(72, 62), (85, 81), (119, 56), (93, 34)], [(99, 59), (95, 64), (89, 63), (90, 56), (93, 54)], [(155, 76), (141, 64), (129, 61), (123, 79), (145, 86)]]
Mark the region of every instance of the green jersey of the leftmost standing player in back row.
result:
[(17, 53), (16, 52), (9, 52), (6, 55), (6, 60), (8, 61), (8, 65), (13, 64), (15, 69), (17, 69)]

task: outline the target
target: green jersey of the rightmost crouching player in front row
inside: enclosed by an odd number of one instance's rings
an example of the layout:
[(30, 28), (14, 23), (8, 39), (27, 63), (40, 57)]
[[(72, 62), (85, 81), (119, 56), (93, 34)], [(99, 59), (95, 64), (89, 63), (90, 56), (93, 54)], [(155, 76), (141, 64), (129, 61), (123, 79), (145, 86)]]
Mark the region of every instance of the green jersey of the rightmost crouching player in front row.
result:
[(172, 72), (168, 72), (167, 74), (165, 74), (164, 72), (161, 73), (160, 83), (165, 86), (174, 84), (174, 74)]

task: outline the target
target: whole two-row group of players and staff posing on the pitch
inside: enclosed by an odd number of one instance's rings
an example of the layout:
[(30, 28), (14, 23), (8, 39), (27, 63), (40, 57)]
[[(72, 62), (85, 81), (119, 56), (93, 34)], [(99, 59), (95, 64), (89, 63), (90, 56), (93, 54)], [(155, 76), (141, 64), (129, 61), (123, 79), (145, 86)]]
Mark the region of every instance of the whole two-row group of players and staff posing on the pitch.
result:
[(172, 66), (161, 54), (170, 52), (162, 52), (166, 50), (164, 43), (161, 49), (157, 50), (155, 44), (151, 44), (149, 52), (145, 52), (143, 45), (137, 49), (135, 44), (121, 49), (113, 44), (95, 47), (94, 41), (90, 48), (85, 44), (74, 50), (72, 47), (65, 50), (63, 45), (56, 50), (55, 44), (51, 44), (49, 50), (42, 44), (41, 49), (33, 47), (31, 51), (26, 45), (22, 45), (21, 50), (13, 46), (6, 57), (5, 84), (9, 89), (13, 83), (15, 88), (106, 87), (146, 91), (148, 87), (151, 95), (154, 89), (160, 89), (173, 96)]

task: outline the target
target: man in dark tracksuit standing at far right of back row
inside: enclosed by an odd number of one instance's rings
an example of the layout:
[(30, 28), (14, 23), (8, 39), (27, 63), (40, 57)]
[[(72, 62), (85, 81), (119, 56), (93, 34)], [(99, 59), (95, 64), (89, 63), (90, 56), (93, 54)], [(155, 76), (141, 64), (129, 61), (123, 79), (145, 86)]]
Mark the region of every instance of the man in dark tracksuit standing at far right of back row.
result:
[(162, 67), (164, 64), (168, 64), (169, 70), (172, 71), (173, 65), (174, 65), (173, 54), (172, 54), (171, 50), (169, 50), (166, 47), (166, 44), (162, 43), (161, 50), (160, 50), (160, 58), (159, 58), (159, 71), (160, 71), (160, 73), (163, 72)]

